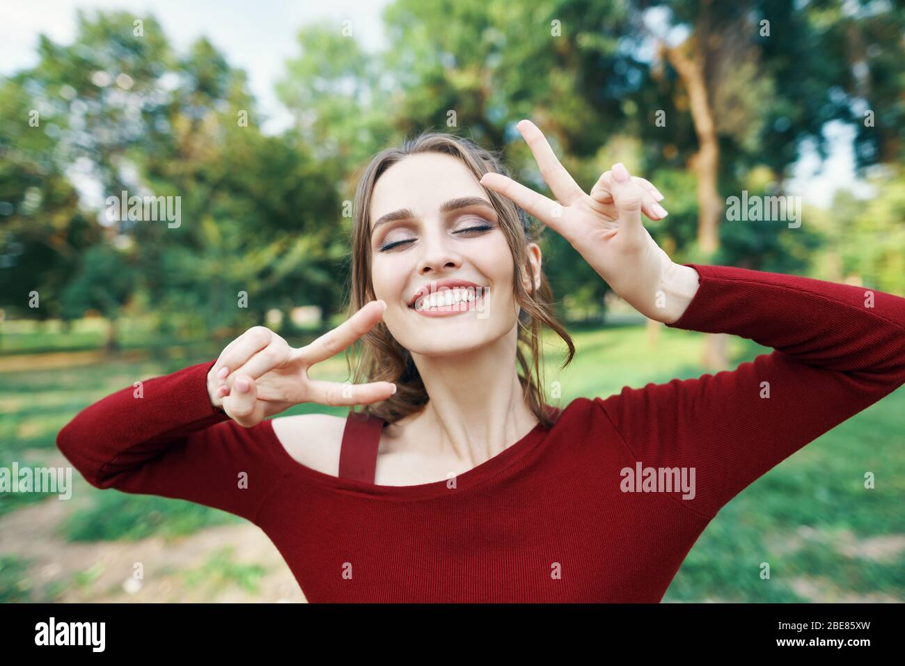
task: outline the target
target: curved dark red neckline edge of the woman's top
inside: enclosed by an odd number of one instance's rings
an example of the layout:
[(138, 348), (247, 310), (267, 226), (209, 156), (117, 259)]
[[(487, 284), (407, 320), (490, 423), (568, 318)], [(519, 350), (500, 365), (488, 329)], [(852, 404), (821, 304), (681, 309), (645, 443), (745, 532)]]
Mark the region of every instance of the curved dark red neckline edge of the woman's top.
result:
[[(561, 410), (553, 408), (553, 412), (554, 419), (556, 419)], [(263, 432), (270, 437), (273, 457), (286, 476), (304, 478), (330, 490), (347, 495), (387, 501), (412, 501), (415, 499), (449, 497), (456, 492), (472, 488), (482, 481), (490, 479), (500, 471), (506, 470), (516, 461), (538, 449), (538, 445), (546, 439), (546, 435), (550, 432), (547, 428), (544, 428), (543, 423), (536, 423), (517, 442), (510, 444), (510, 446), (492, 458), (472, 467), (471, 470), (463, 471), (457, 475), (455, 477), (455, 487), (453, 488), (450, 485), (452, 479), (418, 483), (411, 486), (386, 486), (326, 474), (302, 464), (290, 455), (277, 433), (273, 430), (272, 419), (265, 419), (262, 421), (261, 426)]]

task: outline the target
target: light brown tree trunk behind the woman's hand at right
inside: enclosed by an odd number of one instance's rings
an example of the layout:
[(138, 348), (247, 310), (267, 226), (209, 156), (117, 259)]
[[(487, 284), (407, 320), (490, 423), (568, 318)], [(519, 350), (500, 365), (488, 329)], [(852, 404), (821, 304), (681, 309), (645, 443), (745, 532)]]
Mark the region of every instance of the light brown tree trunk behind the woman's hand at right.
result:
[[(719, 196), (719, 140), (717, 126), (710, 109), (710, 96), (704, 76), (704, 53), (696, 35), (665, 52), (688, 90), (691, 119), (698, 137), (698, 152), (689, 166), (698, 179), (698, 246), (705, 257), (719, 249), (719, 219), (723, 201)], [(704, 341), (702, 364), (715, 370), (729, 366), (727, 341), (723, 333), (711, 334)]]

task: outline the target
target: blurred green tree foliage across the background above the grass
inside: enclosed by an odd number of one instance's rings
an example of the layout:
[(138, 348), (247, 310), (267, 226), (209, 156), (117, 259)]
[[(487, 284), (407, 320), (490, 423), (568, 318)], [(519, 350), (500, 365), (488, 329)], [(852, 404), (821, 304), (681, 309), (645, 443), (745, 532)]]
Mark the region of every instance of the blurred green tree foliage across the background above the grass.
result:
[[(660, 18), (640, 20), (648, 9)], [(698, 137), (687, 90), (658, 51), (670, 28), (707, 43), (720, 192), (781, 194), (802, 143), (824, 150), (829, 120), (858, 129), (861, 164), (897, 159), (905, 145), (896, 121), (903, 81), (893, 66), (900, 10), (779, 0), (707, 8), (397, 0), (384, 15), (386, 52), (366, 52), (334, 24), (300, 30), (300, 51), (278, 85), (296, 122), (281, 136), (262, 133), (245, 73), (212, 43), (175, 52), (153, 16), (141, 37), (133, 20), (81, 13), (73, 43), (43, 37), (38, 64), (0, 83), (0, 305), (9, 315), (145, 313), (171, 342), (238, 333), (270, 309), (317, 305), (330, 319), (348, 282), (343, 202), (367, 159), (425, 128), (454, 131), (502, 149), (514, 175), (546, 193), (513, 128), (522, 117), (538, 121), (588, 189), (620, 160), (655, 182), (670, 215), (648, 227), (676, 261), (806, 272), (838, 255), (846, 273), (900, 288), (900, 177), (880, 176), (869, 213), (849, 205), (856, 221), (844, 237), (825, 224), (812, 233), (808, 224), (724, 221), (719, 256), (701, 256), (688, 166)], [(870, 85), (853, 76), (852, 49)], [(867, 107), (875, 128), (863, 122)], [(657, 111), (665, 127), (654, 122)], [(749, 186), (764, 169), (769, 177)], [(80, 201), (73, 174), (104, 195), (178, 196), (183, 223), (110, 222), (96, 202)], [(872, 240), (851, 243), (850, 233)], [(543, 248), (557, 300), (603, 300), (606, 285), (573, 248), (555, 234)], [(40, 309), (27, 308), (31, 290)], [(247, 308), (237, 307), (239, 292)]]

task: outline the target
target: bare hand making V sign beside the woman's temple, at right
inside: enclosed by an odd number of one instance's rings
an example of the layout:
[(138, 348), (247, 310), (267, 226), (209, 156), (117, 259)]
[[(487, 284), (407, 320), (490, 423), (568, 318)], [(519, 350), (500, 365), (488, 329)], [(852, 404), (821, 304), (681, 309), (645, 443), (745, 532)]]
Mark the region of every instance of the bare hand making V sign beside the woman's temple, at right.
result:
[(522, 120), (517, 127), (558, 202), (501, 174), (485, 174), (481, 185), (562, 235), (618, 296), (644, 316), (664, 323), (679, 319), (697, 290), (698, 276), (694, 269), (672, 262), (642, 224), (642, 212), (657, 220), (667, 215), (658, 203), (663, 197), (656, 187), (631, 177), (620, 163), (600, 176), (586, 195), (534, 123)]

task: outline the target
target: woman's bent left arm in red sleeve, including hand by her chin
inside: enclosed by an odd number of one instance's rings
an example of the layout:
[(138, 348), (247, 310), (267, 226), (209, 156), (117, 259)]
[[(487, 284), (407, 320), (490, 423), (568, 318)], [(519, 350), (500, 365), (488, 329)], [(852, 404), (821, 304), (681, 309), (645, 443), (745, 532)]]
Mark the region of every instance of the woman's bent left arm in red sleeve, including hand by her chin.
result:
[[(380, 303), (380, 306), (372, 305)], [(311, 379), (383, 317), (370, 301), (337, 328), (301, 348), (252, 327), (216, 361), (148, 379), (140, 397), (124, 388), (82, 410), (57, 446), (96, 488), (188, 499), (255, 522), (283, 478), (281, 453), (262, 433), (293, 404), (369, 404), (395, 391), (389, 382), (343, 385)]]

